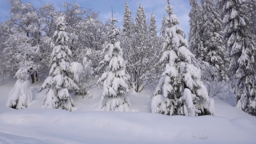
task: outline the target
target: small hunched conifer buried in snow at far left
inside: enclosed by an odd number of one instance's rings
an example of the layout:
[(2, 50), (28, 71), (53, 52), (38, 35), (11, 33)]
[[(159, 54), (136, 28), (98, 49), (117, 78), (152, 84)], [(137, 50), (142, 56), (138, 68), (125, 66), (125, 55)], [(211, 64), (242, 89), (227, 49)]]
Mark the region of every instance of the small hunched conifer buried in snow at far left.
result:
[(30, 89), (27, 72), (27, 68), (20, 68), (16, 72), (15, 77), (17, 77), (18, 80), (8, 95), (6, 106), (22, 109), (26, 108), (28, 104), (32, 102), (32, 91)]

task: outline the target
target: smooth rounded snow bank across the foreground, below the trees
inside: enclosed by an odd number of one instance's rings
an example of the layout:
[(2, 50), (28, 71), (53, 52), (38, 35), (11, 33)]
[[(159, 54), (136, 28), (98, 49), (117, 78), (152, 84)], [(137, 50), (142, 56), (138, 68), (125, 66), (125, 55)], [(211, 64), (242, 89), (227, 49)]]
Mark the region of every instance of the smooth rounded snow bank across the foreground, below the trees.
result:
[(0, 114), (0, 125), (0, 143), (10, 144), (248, 144), (256, 141), (256, 123), (217, 116), (24, 109)]

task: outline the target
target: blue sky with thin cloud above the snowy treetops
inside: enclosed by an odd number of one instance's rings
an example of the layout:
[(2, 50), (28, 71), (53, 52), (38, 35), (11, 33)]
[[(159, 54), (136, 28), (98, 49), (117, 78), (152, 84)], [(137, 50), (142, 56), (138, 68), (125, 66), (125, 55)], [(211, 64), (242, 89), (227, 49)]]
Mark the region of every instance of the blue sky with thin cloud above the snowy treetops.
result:
[[(35, 7), (40, 7), (43, 4), (51, 3), (56, 4), (59, 9), (60, 4), (63, 2), (69, 2), (73, 4), (76, 2), (83, 8), (92, 8), (96, 12), (100, 12), (100, 20), (105, 22), (111, 18), (111, 6), (113, 6), (114, 18), (118, 19), (118, 26), (122, 26), (122, 19), (124, 14), (125, 0), (22, 0), (23, 3), (32, 2)], [(166, 0), (127, 0), (130, 10), (132, 11), (132, 17), (135, 18), (138, 6), (141, 3), (146, 11), (147, 19), (150, 19), (151, 13), (154, 12), (156, 16), (156, 25), (161, 27), (162, 17), (166, 13), (165, 6)], [(189, 32), (189, 17), (191, 6), (189, 0), (170, 0), (170, 4), (173, 6), (174, 14), (180, 19), (180, 27), (185, 31), (188, 38)], [(8, 0), (0, 0), (0, 22), (3, 22), (9, 15), (10, 4)]]

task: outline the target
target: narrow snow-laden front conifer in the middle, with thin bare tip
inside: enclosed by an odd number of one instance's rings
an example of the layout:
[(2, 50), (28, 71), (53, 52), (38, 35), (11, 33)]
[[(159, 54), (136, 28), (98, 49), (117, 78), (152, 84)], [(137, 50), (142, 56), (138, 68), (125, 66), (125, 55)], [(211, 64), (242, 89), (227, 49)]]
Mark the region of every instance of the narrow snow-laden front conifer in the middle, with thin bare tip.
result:
[(128, 78), (126, 74), (126, 62), (123, 58), (122, 48), (118, 35), (120, 34), (119, 28), (115, 28), (117, 19), (110, 19), (111, 31), (109, 34), (110, 42), (104, 48), (106, 55), (100, 65), (106, 66), (106, 70), (99, 78), (97, 86), (103, 86), (102, 98), (99, 107), (106, 111), (130, 111), (130, 100), (127, 96)]

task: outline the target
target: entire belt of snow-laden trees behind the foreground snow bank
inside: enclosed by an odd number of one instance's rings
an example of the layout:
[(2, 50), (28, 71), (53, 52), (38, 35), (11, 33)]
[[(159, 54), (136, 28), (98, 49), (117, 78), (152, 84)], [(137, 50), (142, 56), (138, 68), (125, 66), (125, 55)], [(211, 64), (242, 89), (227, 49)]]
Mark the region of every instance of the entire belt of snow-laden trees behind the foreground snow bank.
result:
[[(88, 80), (99, 76), (105, 110), (130, 111), (127, 94), (149, 85), (156, 88), (154, 113), (214, 115), (209, 96), (228, 88), (237, 108), (256, 115), (256, 1), (190, 0), (188, 41), (167, 2), (159, 29), (153, 12), (147, 21), (140, 4), (133, 19), (125, 2), (121, 30), (115, 18), (101, 22), (76, 3), (57, 11), (54, 4), (10, 0), (10, 16), (0, 24), (0, 78), (16, 76), (15, 87), (29, 89), (27, 74), (32, 83), (47, 74), (38, 90), (48, 89), (44, 108), (71, 111), (70, 91), (90, 95)], [(25, 97), (10, 94), (6, 105), (26, 108)]]

